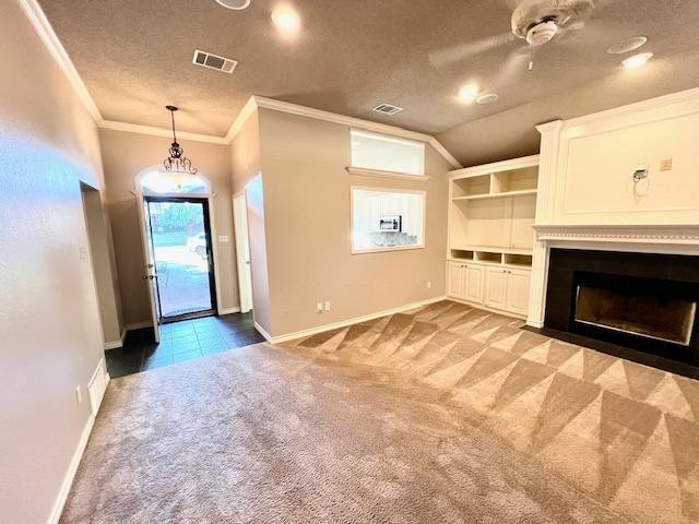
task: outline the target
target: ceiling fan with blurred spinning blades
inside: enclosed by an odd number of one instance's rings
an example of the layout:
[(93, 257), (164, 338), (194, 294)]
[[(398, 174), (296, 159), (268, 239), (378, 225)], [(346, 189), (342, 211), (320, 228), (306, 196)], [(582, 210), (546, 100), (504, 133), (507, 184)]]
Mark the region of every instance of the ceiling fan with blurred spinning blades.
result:
[[(477, 55), (525, 40), (526, 45), (514, 51), (511, 62), (529, 59), (528, 69), (534, 68), (534, 53), (542, 46), (557, 39), (564, 40), (581, 31), (602, 0), (506, 0), (512, 8), (511, 31), (481, 40), (465, 43), (431, 52), (429, 60), (438, 69), (462, 62)], [(609, 1), (609, 0), (605, 0)]]

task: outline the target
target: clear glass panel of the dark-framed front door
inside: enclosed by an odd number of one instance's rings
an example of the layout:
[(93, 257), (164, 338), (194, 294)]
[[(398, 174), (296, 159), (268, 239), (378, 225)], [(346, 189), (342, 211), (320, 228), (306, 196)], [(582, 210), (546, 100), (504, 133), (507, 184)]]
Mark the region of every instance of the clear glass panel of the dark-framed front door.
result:
[(164, 319), (213, 309), (210, 242), (200, 202), (149, 202)]

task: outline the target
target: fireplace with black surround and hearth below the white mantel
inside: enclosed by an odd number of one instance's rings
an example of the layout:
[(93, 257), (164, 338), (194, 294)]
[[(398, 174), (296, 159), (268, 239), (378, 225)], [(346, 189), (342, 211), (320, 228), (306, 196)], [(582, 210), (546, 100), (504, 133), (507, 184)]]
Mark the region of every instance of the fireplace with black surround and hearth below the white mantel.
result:
[(550, 251), (546, 329), (696, 367), (698, 305), (699, 258)]

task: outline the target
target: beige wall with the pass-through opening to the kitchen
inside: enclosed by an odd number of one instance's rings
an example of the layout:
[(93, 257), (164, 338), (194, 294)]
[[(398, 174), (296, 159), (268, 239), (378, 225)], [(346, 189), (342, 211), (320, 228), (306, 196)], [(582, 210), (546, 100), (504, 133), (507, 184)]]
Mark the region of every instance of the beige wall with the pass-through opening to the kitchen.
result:
[[(351, 176), (350, 128), (260, 110), (271, 334), (280, 336), (445, 294), (448, 163), (427, 182)], [(350, 187), (427, 191), (426, 248), (351, 254)], [(427, 288), (431, 281), (433, 287)], [(316, 312), (316, 303), (332, 309)]]

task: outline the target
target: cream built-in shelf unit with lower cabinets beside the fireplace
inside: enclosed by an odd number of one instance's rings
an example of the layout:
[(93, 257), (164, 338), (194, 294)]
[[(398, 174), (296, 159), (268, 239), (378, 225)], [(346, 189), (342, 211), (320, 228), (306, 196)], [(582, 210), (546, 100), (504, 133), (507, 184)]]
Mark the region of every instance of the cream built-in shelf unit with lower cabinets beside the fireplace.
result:
[(451, 171), (448, 295), (526, 314), (538, 156)]

